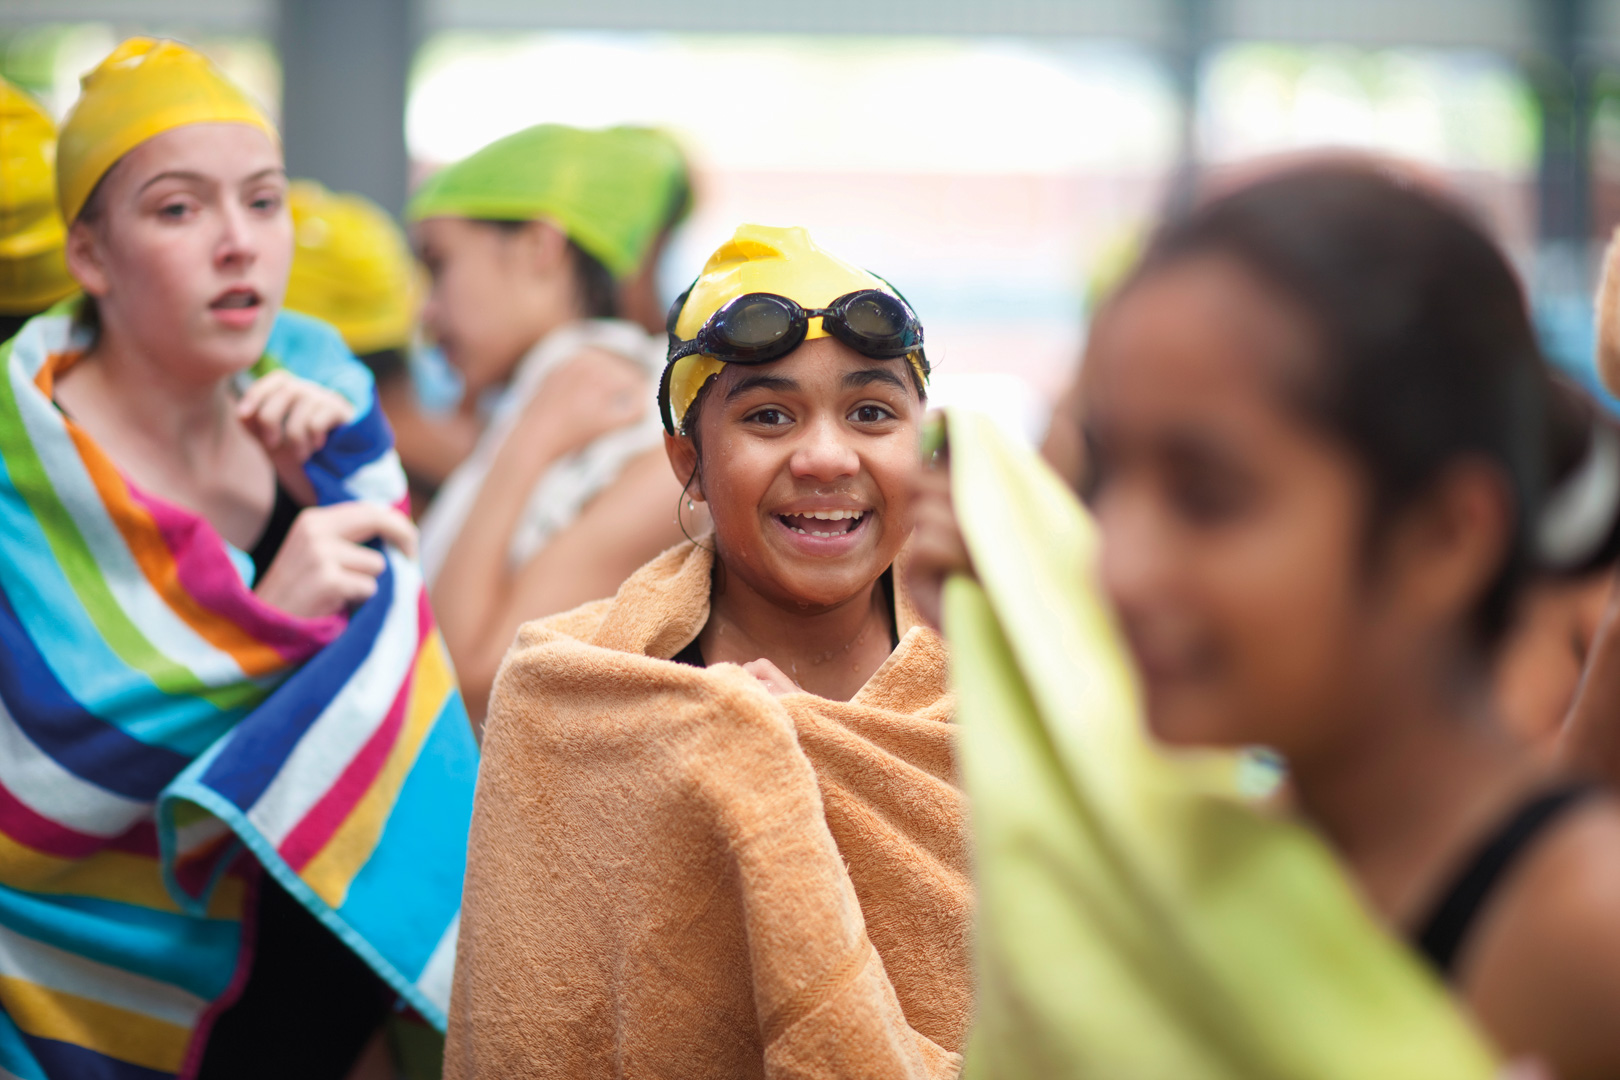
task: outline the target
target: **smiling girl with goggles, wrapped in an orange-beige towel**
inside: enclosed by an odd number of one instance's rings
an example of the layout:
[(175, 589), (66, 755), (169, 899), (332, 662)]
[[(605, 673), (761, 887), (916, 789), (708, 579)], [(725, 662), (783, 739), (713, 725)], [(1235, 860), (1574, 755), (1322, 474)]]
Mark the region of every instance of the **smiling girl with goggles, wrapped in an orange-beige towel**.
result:
[(450, 1077), (949, 1077), (970, 892), (894, 563), (928, 366), (881, 279), (744, 225), (669, 316), (713, 531), (528, 623), (473, 811)]

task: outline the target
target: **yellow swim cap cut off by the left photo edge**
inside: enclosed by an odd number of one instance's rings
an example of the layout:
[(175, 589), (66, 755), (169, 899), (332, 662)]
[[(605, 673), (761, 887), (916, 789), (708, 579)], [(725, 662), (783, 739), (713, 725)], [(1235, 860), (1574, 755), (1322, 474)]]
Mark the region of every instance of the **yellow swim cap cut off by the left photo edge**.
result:
[(55, 155), (57, 125), (0, 79), (0, 314), (34, 314), (78, 288), (62, 257)]

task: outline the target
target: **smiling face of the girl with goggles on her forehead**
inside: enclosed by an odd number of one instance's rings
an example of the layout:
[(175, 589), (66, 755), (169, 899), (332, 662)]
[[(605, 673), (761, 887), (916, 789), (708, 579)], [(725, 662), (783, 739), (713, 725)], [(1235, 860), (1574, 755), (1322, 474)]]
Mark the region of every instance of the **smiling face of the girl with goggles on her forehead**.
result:
[[(867, 596), (912, 529), (923, 403), (906, 364), (816, 338), (716, 376), (697, 419), (692, 489), (727, 575), (804, 614)], [(687, 479), (697, 450), (684, 437), (669, 444)]]

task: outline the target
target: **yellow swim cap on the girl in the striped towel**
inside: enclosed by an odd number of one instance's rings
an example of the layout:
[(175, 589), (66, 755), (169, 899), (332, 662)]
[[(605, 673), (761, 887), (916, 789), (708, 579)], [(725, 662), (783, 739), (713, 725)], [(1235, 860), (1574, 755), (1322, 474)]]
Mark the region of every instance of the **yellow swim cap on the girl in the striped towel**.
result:
[(202, 53), (177, 40), (131, 37), (79, 84), (57, 147), (57, 202), (70, 225), (107, 170), (164, 131), (245, 123), (280, 144), (259, 107)]

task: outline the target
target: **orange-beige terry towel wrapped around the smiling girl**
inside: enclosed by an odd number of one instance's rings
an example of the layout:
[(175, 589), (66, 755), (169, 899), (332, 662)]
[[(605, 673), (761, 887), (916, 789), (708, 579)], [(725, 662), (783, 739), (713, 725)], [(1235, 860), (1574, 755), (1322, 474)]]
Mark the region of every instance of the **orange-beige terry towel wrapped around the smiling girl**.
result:
[(447, 1077), (959, 1072), (972, 894), (944, 648), (910, 627), (849, 703), (671, 664), (711, 562), (682, 544), (518, 633)]

